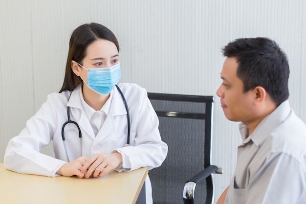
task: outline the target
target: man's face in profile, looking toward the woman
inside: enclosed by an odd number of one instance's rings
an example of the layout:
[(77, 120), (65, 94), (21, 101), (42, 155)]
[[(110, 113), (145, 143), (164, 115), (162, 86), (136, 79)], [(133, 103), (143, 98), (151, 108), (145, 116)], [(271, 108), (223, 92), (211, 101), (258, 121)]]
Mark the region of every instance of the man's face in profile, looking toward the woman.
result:
[(232, 121), (251, 122), (254, 115), (254, 92), (243, 92), (243, 83), (237, 77), (236, 58), (227, 57), (221, 71), (222, 84), (217, 90), (225, 117)]

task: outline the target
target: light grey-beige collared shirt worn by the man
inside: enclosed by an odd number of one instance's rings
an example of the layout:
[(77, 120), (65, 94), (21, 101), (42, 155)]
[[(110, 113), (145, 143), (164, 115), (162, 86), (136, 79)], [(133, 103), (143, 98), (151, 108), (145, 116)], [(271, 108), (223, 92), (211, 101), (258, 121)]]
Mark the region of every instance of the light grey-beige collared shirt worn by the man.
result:
[(306, 204), (306, 125), (284, 101), (242, 144), (224, 204)]

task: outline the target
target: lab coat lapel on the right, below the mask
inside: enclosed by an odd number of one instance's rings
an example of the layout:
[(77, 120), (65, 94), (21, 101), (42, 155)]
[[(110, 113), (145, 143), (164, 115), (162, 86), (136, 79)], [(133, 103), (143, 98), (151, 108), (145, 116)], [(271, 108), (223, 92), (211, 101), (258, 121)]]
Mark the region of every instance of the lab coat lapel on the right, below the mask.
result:
[(111, 98), (111, 103), (110, 103), (110, 108), (109, 108), (109, 114), (106, 117), (101, 130), (99, 131), (97, 135), (97, 139), (102, 139), (107, 136), (109, 136), (111, 133), (116, 131), (117, 127), (114, 121), (114, 117), (118, 115), (125, 115), (127, 114), (127, 111), (125, 109), (124, 103), (122, 101), (120, 93), (117, 91), (116, 88), (113, 89), (112, 91), (112, 98)]

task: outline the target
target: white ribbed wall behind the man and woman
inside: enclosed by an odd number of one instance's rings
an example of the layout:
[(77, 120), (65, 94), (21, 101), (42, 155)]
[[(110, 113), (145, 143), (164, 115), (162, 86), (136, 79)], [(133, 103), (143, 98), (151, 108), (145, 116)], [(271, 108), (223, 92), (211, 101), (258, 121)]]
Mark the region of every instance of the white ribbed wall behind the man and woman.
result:
[[(9, 139), (61, 88), (71, 32), (89, 22), (117, 36), (121, 81), (150, 92), (215, 95), (221, 48), (272, 38), (288, 55), (289, 101), (306, 122), (304, 11), (304, 0), (0, 0), (0, 162)], [(235, 167), (237, 126), (216, 96), (212, 161), (224, 169), (214, 176), (216, 198)]]

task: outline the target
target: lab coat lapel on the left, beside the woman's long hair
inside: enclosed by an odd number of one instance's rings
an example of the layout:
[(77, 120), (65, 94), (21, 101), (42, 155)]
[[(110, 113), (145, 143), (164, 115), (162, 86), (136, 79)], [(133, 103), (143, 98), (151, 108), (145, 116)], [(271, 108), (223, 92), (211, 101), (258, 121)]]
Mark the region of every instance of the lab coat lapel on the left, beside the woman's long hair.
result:
[(89, 123), (87, 115), (85, 114), (83, 110), (83, 106), (81, 103), (80, 89), (82, 89), (81, 85), (79, 85), (76, 89), (72, 91), (70, 99), (67, 103), (67, 106), (71, 107), (70, 108), (70, 114), (71, 114), (70, 119), (77, 122), (81, 130), (84, 130), (87, 133), (87, 135), (89, 135), (90, 137), (94, 139), (95, 138), (94, 132)]

